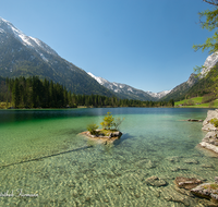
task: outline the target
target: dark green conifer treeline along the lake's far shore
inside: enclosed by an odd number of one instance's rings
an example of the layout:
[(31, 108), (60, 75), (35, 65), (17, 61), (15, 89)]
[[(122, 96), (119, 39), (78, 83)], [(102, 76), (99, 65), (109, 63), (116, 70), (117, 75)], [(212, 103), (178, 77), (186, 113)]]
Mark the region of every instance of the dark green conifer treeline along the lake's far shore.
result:
[(141, 101), (100, 95), (75, 95), (65, 87), (38, 76), (0, 77), (0, 101), (14, 108), (76, 108), (87, 107), (173, 107), (174, 101)]

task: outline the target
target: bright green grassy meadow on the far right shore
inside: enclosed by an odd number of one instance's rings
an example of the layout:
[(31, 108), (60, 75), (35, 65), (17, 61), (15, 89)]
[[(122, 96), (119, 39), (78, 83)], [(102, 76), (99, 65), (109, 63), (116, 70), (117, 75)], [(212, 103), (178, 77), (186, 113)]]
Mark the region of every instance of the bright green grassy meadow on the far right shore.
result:
[[(184, 108), (218, 108), (218, 99), (207, 102), (207, 104), (202, 104), (203, 97), (195, 97), (195, 98), (190, 98), (190, 99), (184, 99), (181, 101), (175, 101), (174, 106), (175, 107), (184, 107)], [(186, 106), (184, 106), (186, 104)], [(183, 106), (181, 106), (183, 105)]]

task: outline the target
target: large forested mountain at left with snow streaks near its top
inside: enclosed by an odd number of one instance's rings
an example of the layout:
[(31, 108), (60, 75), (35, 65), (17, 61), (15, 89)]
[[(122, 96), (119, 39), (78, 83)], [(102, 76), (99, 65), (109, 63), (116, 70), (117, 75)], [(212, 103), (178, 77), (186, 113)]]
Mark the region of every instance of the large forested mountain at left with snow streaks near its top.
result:
[(64, 85), (75, 94), (114, 96), (84, 70), (61, 58), (41, 40), (26, 36), (0, 17), (0, 76), (37, 75)]

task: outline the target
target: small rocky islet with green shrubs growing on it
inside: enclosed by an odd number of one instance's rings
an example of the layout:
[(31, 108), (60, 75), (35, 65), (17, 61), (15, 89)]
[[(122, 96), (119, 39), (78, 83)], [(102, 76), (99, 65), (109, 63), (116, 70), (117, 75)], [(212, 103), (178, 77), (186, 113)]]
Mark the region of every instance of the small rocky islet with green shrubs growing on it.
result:
[(87, 131), (82, 132), (88, 138), (99, 141), (104, 144), (113, 143), (122, 136), (122, 133), (118, 130), (124, 119), (113, 118), (110, 112), (104, 117), (104, 121), (100, 123), (101, 130), (98, 130), (98, 125), (95, 123), (88, 124)]

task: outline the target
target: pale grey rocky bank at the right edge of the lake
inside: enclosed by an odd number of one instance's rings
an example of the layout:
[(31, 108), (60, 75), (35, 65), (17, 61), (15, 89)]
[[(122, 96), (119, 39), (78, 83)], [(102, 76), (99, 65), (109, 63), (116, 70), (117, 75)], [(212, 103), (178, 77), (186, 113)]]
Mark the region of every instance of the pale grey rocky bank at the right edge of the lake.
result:
[(208, 110), (207, 118), (203, 122), (203, 131), (206, 131), (206, 136), (202, 139), (199, 145), (218, 154), (218, 129), (210, 123), (211, 119), (218, 119), (218, 109)]

